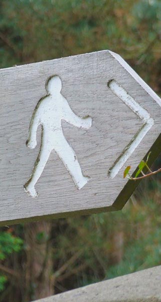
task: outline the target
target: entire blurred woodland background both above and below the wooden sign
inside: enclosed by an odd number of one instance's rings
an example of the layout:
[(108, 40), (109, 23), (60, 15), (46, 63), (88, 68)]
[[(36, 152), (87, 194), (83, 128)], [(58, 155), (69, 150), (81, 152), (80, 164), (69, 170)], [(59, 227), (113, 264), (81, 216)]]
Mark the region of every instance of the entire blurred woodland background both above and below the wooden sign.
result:
[[(160, 0), (0, 2), (0, 68), (110, 49), (161, 95), (160, 39)], [(161, 264), (160, 197), (158, 174), (122, 211), (4, 226), (0, 302), (29, 302)]]

